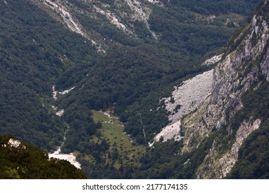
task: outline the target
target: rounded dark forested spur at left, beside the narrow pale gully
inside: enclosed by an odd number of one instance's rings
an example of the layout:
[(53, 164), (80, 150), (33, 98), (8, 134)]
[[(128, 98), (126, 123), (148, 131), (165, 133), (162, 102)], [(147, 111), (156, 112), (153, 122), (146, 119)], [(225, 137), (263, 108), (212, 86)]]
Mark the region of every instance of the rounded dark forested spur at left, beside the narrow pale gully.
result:
[(48, 110), (38, 94), (26, 86), (2, 77), (0, 80), (0, 133), (28, 139), (43, 150), (60, 145), (65, 126), (53, 110)]

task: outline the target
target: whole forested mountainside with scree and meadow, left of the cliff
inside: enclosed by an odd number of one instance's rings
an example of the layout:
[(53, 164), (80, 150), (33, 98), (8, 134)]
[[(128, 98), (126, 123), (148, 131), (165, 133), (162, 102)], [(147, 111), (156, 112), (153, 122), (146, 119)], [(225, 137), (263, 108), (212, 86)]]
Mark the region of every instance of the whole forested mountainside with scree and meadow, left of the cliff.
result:
[[(202, 61), (225, 52), (258, 2), (0, 1), (0, 134), (48, 151), (66, 140), (62, 151), (75, 152), (91, 178), (194, 177), (144, 174), (150, 151), (174, 154), (179, 142), (141, 150), (169, 123), (161, 99), (212, 68)], [(107, 121), (126, 136), (111, 138)], [(123, 159), (118, 145), (135, 153)]]

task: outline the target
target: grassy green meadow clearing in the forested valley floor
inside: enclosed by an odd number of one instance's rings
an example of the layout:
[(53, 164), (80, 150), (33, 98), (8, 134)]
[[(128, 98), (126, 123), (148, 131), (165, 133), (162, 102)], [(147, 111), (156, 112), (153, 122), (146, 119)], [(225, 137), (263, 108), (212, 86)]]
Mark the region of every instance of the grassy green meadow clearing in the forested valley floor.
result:
[[(102, 154), (102, 159), (106, 163), (119, 168), (121, 165), (136, 165), (139, 166), (139, 159), (146, 151), (143, 145), (137, 145), (126, 132), (124, 125), (119, 121), (119, 117), (111, 113), (92, 111), (92, 119), (95, 123), (101, 122), (102, 127), (97, 134), (90, 137), (92, 143), (99, 143), (106, 140), (110, 148), (106, 153)], [(73, 152), (78, 155), (79, 152)], [(94, 163), (94, 157), (91, 154), (85, 156), (86, 161)]]

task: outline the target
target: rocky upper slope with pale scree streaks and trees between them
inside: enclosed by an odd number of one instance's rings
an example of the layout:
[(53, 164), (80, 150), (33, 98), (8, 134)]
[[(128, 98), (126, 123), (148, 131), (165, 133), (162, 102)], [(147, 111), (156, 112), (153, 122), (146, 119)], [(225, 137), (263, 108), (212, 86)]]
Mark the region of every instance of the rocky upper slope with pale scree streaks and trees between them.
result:
[[(133, 23), (139, 21), (144, 23), (154, 39), (158, 38), (155, 32), (150, 30), (148, 19), (152, 12), (150, 6), (162, 6), (160, 1), (31, 1), (39, 8), (46, 10), (54, 19), (63, 23), (72, 32), (81, 34), (82, 37), (91, 41), (92, 45), (96, 45), (99, 51), (104, 51), (103, 46), (115, 43), (115, 40), (103, 37), (102, 32), (89, 23), (99, 21), (106, 23), (106, 25), (110, 23), (110, 25), (128, 34), (129, 37), (137, 38)], [(99, 23), (99, 25), (103, 24)]]

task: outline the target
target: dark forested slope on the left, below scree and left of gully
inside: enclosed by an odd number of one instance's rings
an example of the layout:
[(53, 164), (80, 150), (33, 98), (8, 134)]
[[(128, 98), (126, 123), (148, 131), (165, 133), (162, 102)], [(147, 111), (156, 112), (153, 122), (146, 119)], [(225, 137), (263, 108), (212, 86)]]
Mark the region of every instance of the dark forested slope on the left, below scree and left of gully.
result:
[(52, 84), (95, 49), (29, 1), (0, 3), (0, 134), (53, 150), (66, 125), (51, 108)]

